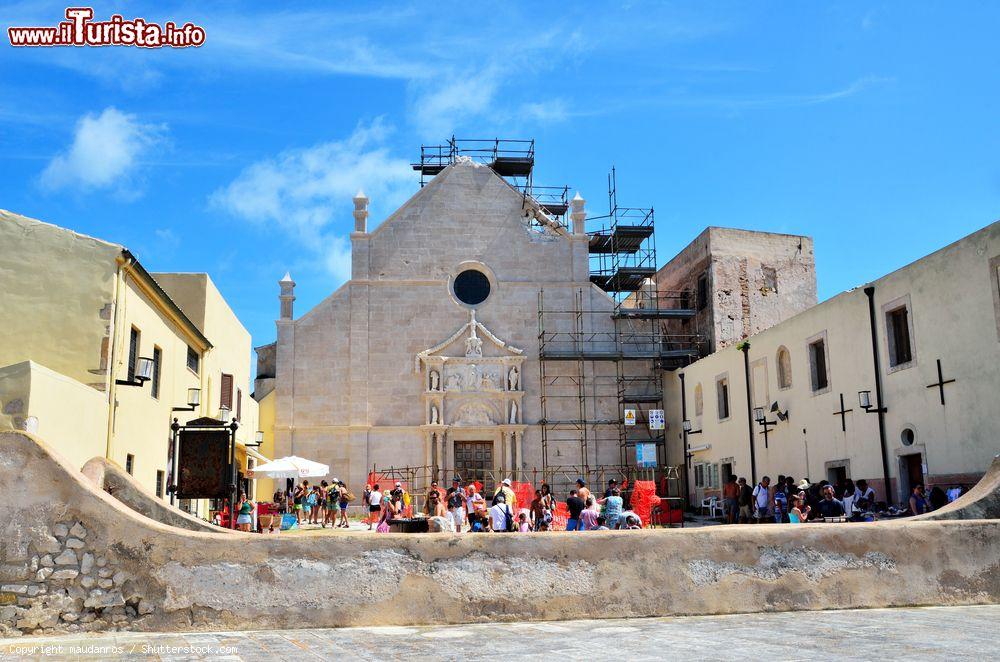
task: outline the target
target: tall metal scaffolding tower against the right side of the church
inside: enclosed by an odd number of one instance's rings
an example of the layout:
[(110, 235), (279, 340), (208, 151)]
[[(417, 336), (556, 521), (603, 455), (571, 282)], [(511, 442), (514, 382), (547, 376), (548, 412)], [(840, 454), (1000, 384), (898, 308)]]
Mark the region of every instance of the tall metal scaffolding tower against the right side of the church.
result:
[[(657, 465), (664, 466), (664, 431), (649, 428), (649, 412), (664, 409), (662, 371), (685, 366), (704, 350), (697, 335), (667, 332), (667, 320), (694, 317), (692, 296), (657, 289), (653, 210), (618, 204), (614, 169), (608, 206), (606, 215), (588, 219), (597, 227), (587, 234), (590, 281), (613, 306), (588, 308), (580, 289), (572, 308), (547, 308), (544, 290), (538, 293), (543, 467), (550, 462), (550, 445), (564, 447), (568, 440), (579, 441), (585, 468), (606, 443), (617, 444), (622, 465), (629, 448), (655, 444)], [(567, 418), (561, 414), (573, 398), (577, 414)]]

